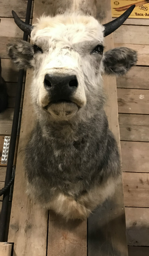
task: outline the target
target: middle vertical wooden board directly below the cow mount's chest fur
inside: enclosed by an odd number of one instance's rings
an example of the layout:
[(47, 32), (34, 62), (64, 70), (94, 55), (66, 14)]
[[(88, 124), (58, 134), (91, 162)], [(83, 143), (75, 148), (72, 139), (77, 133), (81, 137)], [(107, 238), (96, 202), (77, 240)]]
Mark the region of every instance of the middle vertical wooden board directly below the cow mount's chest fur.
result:
[(49, 212), (48, 256), (86, 256), (86, 221), (65, 222), (53, 211)]

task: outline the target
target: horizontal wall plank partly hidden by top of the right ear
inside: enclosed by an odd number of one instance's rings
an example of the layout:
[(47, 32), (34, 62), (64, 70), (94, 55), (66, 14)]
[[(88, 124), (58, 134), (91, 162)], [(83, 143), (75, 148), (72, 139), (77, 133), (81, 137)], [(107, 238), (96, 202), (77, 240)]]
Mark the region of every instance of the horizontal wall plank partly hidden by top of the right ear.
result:
[(149, 46), (144, 44), (114, 43), (115, 47), (128, 47), (137, 51), (137, 65), (149, 66)]

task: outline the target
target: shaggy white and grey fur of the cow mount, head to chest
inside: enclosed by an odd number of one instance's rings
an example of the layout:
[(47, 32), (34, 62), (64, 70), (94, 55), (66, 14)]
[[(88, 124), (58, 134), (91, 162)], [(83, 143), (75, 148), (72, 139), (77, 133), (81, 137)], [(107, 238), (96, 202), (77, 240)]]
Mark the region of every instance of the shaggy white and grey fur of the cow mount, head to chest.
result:
[[(104, 112), (102, 74), (124, 74), (136, 52), (116, 48), (104, 54), (104, 27), (90, 16), (41, 17), (31, 32), (33, 46), (18, 42), (9, 55), (19, 67), (33, 67), (32, 102), (37, 122), (25, 149), (27, 192), (66, 219), (86, 218), (120, 180), (118, 147)], [(38, 50), (39, 49), (39, 50)], [(69, 102), (55, 99), (45, 75), (76, 76)], [(59, 85), (60, 86), (60, 85)]]

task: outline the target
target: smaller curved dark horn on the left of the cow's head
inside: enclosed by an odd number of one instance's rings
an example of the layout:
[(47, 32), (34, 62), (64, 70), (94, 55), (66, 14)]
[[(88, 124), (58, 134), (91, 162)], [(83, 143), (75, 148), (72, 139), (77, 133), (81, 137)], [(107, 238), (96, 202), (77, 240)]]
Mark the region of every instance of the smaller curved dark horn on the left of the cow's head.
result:
[(31, 30), (33, 29), (33, 26), (30, 24), (26, 24), (23, 20), (21, 20), (16, 12), (12, 11), (12, 16), (14, 18), (15, 23), (17, 26), (23, 30), (27, 35), (31, 34)]

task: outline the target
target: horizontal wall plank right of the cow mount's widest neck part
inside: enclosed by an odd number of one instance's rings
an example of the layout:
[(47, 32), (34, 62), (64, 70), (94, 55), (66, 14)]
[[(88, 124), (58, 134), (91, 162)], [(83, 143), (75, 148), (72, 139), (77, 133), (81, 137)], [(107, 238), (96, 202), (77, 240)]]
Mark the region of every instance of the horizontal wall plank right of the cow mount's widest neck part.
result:
[(121, 141), (122, 167), (125, 172), (149, 172), (149, 143)]

